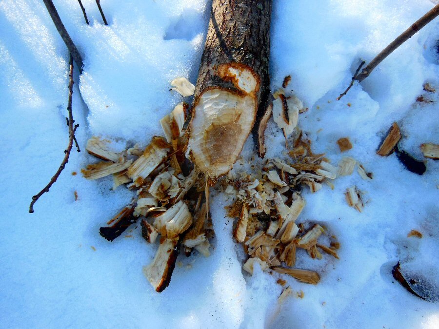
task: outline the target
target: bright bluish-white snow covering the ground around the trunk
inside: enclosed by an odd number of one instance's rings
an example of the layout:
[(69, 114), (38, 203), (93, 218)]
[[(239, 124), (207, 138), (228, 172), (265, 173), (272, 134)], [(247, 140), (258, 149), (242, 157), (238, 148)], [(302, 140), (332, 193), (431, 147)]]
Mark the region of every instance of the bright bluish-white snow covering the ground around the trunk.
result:
[[(73, 99), (81, 149), (91, 135), (145, 145), (162, 135), (160, 118), (183, 100), (169, 90), (170, 81), (196, 81), (209, 1), (101, 0), (108, 26), (95, 1), (82, 2), (89, 26), (76, 0), (54, 1), (84, 58)], [(272, 91), (291, 75), (287, 91), (309, 108), (299, 115), (299, 126), (313, 150), (326, 152), (333, 164), (352, 156), (374, 174), (365, 181), (355, 170), (337, 178), (334, 190), (327, 184), (315, 194), (305, 189), (299, 221), (318, 222), (334, 233), (340, 259), (298, 253), (298, 266), (319, 271), (321, 281), (311, 286), (282, 276), (304, 297), (293, 294), (279, 305), (277, 277), (241, 270), (243, 254), (222, 194), (212, 193), (211, 256), (180, 256), (160, 294), (142, 274), (157, 246), (146, 244), (140, 227), (113, 243), (100, 237), (99, 227), (132, 194), (122, 187), (111, 191), (110, 179), (83, 179), (80, 169), (93, 161), (85, 152), (72, 152), (50, 193), (28, 213), (32, 195), (57, 170), (67, 144), (68, 54), (42, 1), (1, 0), (2, 326), (437, 328), (438, 304), (408, 293), (391, 269), (403, 261), (439, 287), (438, 162), (427, 160), (420, 176), (395, 155), (379, 157), (376, 150), (394, 121), (403, 135), (400, 146), (418, 159), (421, 143), (439, 143), (438, 92), (422, 91), (425, 82), (439, 90), (439, 20), (335, 99), (359, 58), (373, 58), (432, 6), (428, 0), (274, 1)], [(420, 95), (433, 102), (417, 102)], [(340, 154), (340, 137), (349, 137), (353, 149)], [(267, 157), (284, 152), (283, 135), (272, 121), (266, 143)], [(253, 153), (249, 140), (243, 157)], [(363, 193), (363, 213), (344, 200), (354, 185)], [(413, 229), (422, 239), (407, 237)]]

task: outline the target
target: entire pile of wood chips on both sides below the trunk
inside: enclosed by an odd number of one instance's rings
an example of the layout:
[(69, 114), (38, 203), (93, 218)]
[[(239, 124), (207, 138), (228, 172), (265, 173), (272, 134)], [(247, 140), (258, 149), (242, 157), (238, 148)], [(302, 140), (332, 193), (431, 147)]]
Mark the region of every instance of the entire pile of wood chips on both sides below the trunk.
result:
[[(188, 81), (180, 81), (180, 89), (182, 86), (191, 87)], [(193, 88), (185, 89), (185, 95), (193, 93)], [(307, 109), (297, 97), (286, 97), (282, 90), (274, 98), (273, 117), (283, 130), (289, 157), (259, 161), (260, 168), (251, 166), (252, 174), (232, 170), (212, 182), (193, 167), (184, 154), (187, 135), (183, 126), (188, 106), (183, 102), (160, 120), (165, 138), (153, 137), (145, 149), (135, 145), (115, 152), (109, 140), (94, 136), (88, 141), (88, 153), (102, 161), (83, 169), (84, 177), (98, 179), (111, 175), (113, 189), (126, 184), (137, 195), (106, 227), (100, 228), (100, 234), (113, 241), (140, 220), (145, 240), (160, 241), (156, 256), (144, 268), (155, 290), (160, 292), (168, 286), (179, 252), (189, 256), (195, 250), (209, 256), (209, 239), (214, 231), (208, 214), (208, 192), (214, 184), (234, 199), (228, 215), (236, 218), (234, 237), (249, 256), (243, 264), (245, 271), (253, 273), (258, 263), (264, 271), (289, 274), (300, 282), (317, 284), (319, 273), (294, 268), (296, 250), (303, 249), (312, 258), (322, 258), (320, 252), (339, 258), (335, 236), (317, 223), (299, 223), (305, 206), (301, 189), (307, 186), (315, 193), (325, 181), (333, 188), (329, 181), (352, 174), (357, 161), (344, 157), (334, 166), (324, 154), (313, 154), (311, 141), (297, 126), (299, 113)], [(360, 164), (358, 172), (364, 179), (372, 178)], [(346, 199), (361, 212), (363, 203), (355, 187), (346, 191)], [(326, 245), (319, 242), (321, 236), (326, 236)]]

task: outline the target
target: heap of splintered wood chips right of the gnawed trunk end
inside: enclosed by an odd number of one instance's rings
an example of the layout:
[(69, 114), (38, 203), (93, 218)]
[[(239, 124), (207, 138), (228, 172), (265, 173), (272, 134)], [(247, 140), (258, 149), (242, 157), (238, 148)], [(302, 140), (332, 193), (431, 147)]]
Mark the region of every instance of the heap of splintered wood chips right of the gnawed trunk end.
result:
[(323, 227), (308, 221), (299, 223), (306, 204), (301, 189), (309, 186), (311, 192), (317, 192), (325, 180), (352, 174), (357, 162), (344, 158), (338, 166), (330, 164), (324, 155), (312, 153), (310, 140), (300, 131), (290, 141), (290, 160), (267, 159), (262, 168), (253, 166), (254, 173), (231, 172), (220, 183), (223, 191), (234, 198), (226, 208), (228, 215), (236, 218), (235, 240), (248, 255), (243, 270), (253, 274), (257, 266), (262, 271), (317, 284), (318, 272), (295, 268), (298, 255), (307, 253), (321, 259), (323, 252), (336, 259), (339, 256), (333, 245), (323, 242), (329, 236)]

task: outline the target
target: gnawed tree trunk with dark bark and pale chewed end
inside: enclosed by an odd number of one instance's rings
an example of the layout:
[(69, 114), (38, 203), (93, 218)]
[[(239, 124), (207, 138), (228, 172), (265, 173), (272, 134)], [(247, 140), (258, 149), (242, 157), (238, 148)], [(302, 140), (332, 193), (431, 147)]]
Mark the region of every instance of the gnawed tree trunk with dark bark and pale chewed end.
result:
[(254, 126), (263, 135), (271, 8), (271, 0), (213, 0), (188, 141), (189, 157), (211, 178), (230, 170)]

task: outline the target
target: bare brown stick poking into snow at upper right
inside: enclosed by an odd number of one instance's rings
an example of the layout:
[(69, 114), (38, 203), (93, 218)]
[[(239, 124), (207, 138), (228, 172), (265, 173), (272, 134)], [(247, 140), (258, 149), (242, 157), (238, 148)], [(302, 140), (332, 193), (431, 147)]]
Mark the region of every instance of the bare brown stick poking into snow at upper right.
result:
[[(439, 16), (439, 4), (434, 6), (428, 13), (418, 19), (415, 23), (412, 24), (407, 30), (405, 30), (402, 34), (398, 36), (395, 40), (393, 40), (387, 47), (385, 47), (374, 59), (370, 61), (370, 63), (358, 74), (356, 72), (355, 76), (352, 78), (351, 84), (346, 89), (346, 91), (341, 94), (337, 100), (340, 100), (341, 97), (346, 95), (347, 91), (354, 84), (354, 80), (358, 82), (363, 81), (366, 77), (369, 77), (371, 72), (381, 63), (384, 58), (389, 56), (395, 49), (397, 49), (401, 44), (410, 39), (416, 32), (418, 32), (421, 28), (431, 22), (433, 19)], [(362, 65), (360, 65), (361, 67)]]

